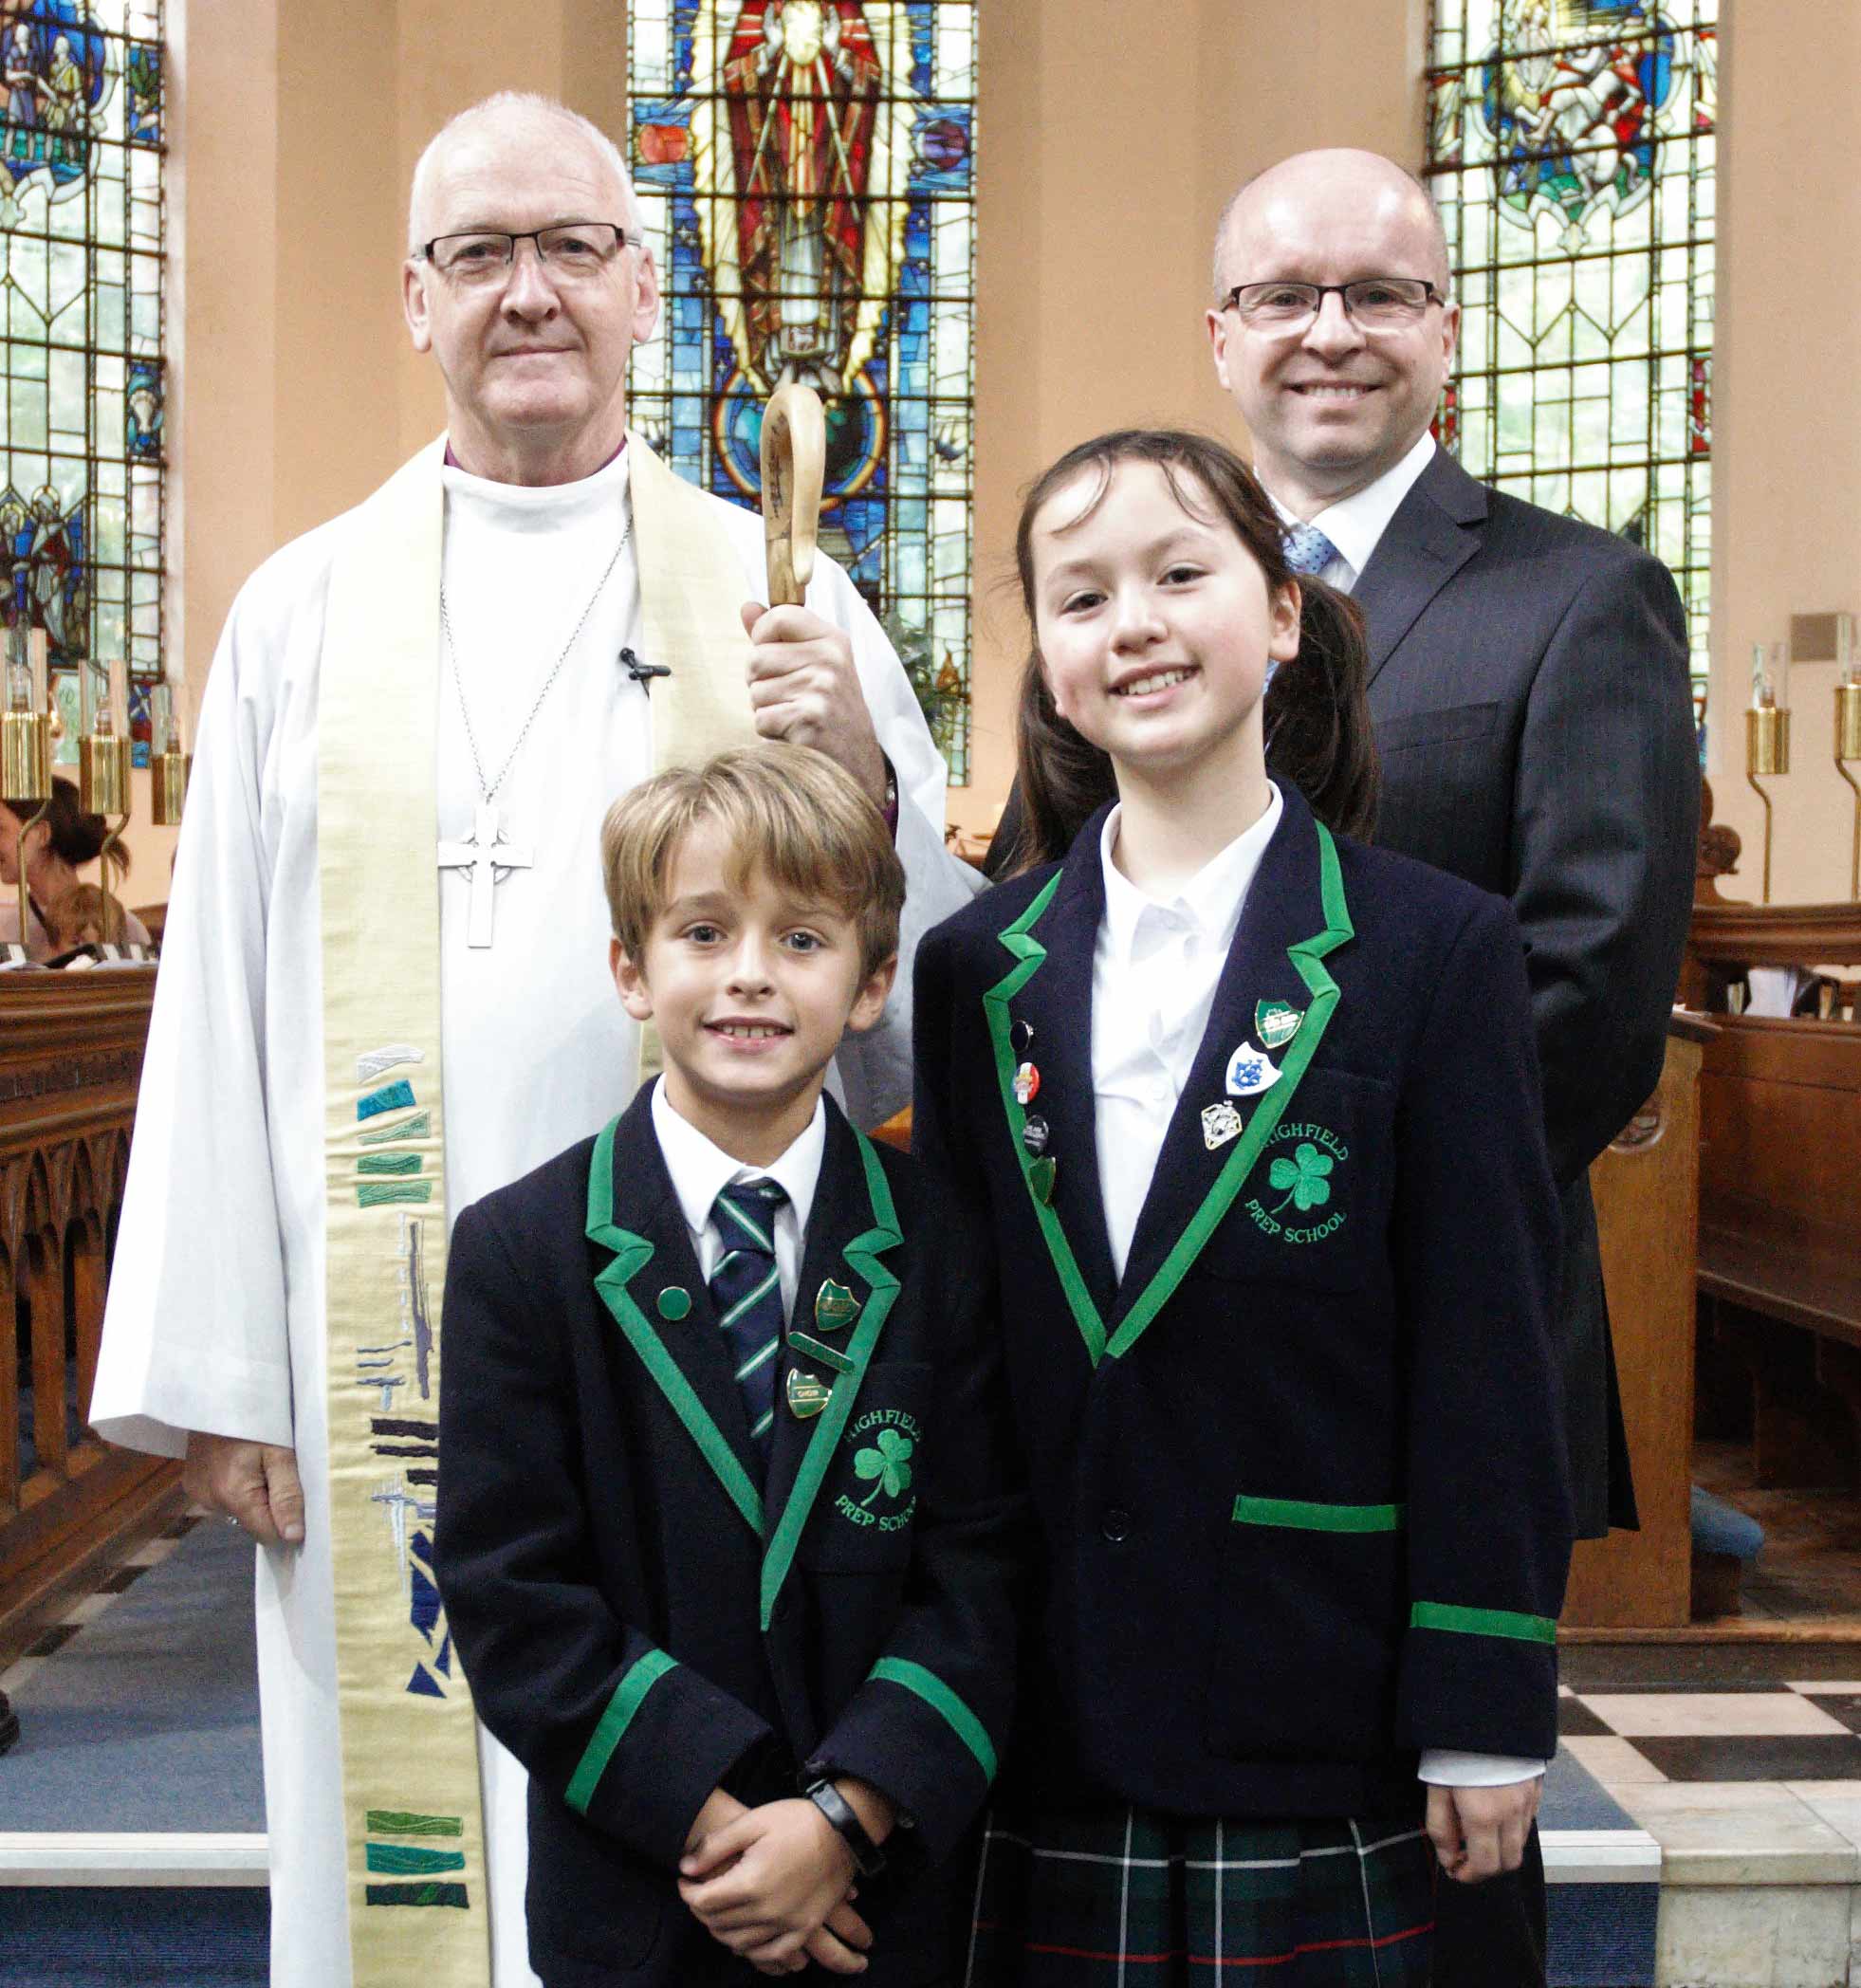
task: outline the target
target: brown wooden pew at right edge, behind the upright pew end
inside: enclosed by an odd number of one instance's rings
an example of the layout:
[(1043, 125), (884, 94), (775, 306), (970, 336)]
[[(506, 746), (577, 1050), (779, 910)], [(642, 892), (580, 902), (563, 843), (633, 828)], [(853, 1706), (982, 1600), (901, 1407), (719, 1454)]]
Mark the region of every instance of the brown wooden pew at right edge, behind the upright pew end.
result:
[(1718, 1020), (1700, 1296), (1750, 1372), (1758, 1481), (1861, 1483), (1861, 1028)]

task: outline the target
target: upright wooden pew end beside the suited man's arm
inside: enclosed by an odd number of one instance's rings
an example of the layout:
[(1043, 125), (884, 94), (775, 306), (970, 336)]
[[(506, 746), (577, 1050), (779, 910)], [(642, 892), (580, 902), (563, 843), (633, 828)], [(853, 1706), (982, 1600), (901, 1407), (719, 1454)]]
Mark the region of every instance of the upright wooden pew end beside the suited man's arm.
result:
[(1680, 1628), (1692, 1614), (1700, 1056), (1716, 1034), (1672, 1018), (1660, 1087), (1591, 1167), (1640, 1531), (1577, 1545), (1565, 1630)]

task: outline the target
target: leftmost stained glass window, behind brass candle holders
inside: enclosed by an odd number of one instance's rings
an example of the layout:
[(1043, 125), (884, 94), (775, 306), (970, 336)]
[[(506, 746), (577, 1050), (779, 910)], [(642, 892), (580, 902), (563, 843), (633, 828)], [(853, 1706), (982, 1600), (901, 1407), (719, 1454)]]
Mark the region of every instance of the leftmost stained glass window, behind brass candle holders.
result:
[(135, 761), (161, 678), (163, 0), (6, 0), (0, 290), (6, 624), (129, 664)]

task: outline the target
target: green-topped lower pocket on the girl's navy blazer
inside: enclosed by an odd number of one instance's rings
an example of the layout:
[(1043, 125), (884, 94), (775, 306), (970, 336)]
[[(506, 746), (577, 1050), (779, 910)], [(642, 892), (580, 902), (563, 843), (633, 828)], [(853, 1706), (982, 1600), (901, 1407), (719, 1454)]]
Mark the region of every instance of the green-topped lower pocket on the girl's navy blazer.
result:
[(1209, 1684), (1231, 1759), (1362, 1761), (1396, 1720), (1404, 1515), (1396, 1503), (1235, 1499)]

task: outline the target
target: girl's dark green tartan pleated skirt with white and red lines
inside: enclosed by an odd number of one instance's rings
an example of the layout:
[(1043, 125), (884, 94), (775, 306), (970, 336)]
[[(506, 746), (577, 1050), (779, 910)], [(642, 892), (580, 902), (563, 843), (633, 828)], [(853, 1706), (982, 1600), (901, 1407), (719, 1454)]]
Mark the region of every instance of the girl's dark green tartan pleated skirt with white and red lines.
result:
[(1428, 1988), (1434, 1901), (1420, 1805), (1346, 1821), (998, 1805), (964, 1988)]

